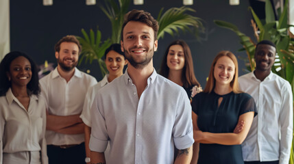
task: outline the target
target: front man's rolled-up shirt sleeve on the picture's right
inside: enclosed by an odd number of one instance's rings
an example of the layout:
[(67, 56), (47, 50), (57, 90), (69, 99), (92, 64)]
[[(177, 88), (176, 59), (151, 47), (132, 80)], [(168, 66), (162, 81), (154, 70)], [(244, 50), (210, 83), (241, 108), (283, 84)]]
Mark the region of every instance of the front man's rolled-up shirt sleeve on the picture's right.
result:
[(173, 141), (175, 148), (179, 150), (189, 148), (194, 143), (191, 104), (186, 93), (181, 92), (181, 94), (177, 102), (177, 115), (173, 126)]

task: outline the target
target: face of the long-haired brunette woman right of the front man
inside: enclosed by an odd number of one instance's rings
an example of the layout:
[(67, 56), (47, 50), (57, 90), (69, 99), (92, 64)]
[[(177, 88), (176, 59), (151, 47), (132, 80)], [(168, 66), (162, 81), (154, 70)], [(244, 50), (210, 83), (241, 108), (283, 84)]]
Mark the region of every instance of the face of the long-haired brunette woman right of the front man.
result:
[(182, 70), (185, 66), (184, 49), (181, 45), (175, 44), (169, 47), (167, 54), (167, 66), (169, 70)]

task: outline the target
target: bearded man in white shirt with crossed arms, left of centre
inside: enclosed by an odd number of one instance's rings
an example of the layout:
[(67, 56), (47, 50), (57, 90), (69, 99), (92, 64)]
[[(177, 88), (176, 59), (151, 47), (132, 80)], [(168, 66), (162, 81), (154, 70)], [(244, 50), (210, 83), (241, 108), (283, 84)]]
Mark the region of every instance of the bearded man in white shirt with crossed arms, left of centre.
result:
[(94, 77), (79, 71), (81, 45), (75, 36), (56, 43), (58, 66), (40, 79), (41, 94), (47, 100), (47, 154), (49, 163), (84, 163), (84, 123), (79, 118), (88, 87)]

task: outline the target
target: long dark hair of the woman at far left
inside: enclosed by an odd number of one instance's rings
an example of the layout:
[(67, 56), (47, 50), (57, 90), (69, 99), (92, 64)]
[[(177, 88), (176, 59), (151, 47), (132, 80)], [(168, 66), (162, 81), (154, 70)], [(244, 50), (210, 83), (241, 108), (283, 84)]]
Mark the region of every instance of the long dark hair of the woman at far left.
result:
[(39, 85), (39, 78), (38, 78), (38, 69), (31, 57), (26, 55), (25, 53), (21, 53), (19, 51), (12, 51), (5, 55), (0, 63), (0, 96), (5, 96), (8, 89), (11, 87), (11, 82), (7, 77), (7, 72), (10, 72), (10, 64), (14, 59), (17, 57), (25, 57), (29, 60), (31, 64), (32, 70), (32, 79), (27, 83), (27, 94), (35, 94), (38, 96), (40, 94), (40, 85)]

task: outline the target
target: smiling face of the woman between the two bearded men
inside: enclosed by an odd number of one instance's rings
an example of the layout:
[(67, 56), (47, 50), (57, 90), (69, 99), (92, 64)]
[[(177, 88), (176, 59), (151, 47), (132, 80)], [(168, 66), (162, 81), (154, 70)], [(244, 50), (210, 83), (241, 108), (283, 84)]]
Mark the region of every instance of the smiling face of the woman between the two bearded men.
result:
[(110, 76), (119, 77), (123, 74), (123, 66), (127, 64), (127, 60), (123, 55), (112, 50), (106, 54), (105, 64)]

